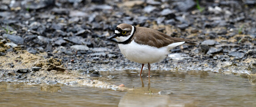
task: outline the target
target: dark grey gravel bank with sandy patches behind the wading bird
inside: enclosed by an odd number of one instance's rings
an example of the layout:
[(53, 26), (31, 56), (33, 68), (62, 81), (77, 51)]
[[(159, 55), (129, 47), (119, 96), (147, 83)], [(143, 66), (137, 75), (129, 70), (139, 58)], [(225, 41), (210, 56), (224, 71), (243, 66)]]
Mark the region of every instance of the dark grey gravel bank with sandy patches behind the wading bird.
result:
[[(108, 39), (121, 23), (199, 43), (171, 49), (153, 70), (256, 73), (255, 0), (2, 0), (1, 77), (29, 73), (29, 79), (38, 70), (139, 70), (141, 65), (124, 58)], [(24, 58), (30, 55), (37, 58)], [(41, 58), (44, 62), (31, 61)]]

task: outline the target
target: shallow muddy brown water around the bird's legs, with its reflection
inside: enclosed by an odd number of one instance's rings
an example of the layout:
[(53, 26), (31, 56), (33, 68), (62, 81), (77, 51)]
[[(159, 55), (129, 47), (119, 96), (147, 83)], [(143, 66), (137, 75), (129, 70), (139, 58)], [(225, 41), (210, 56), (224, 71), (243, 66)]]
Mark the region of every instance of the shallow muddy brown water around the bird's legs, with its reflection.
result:
[[(256, 107), (256, 86), (247, 76), (207, 71), (101, 71), (94, 78), (133, 90), (0, 82), (1, 107)], [(112, 75), (114, 78), (107, 78)], [(142, 80), (142, 81), (141, 81)]]

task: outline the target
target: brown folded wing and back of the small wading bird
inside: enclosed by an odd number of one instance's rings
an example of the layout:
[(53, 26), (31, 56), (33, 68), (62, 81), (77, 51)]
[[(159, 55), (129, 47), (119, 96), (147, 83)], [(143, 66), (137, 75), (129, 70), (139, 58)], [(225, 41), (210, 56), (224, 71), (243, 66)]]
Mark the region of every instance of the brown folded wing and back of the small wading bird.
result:
[(164, 33), (161, 33), (155, 29), (145, 28), (145, 27), (136, 27), (136, 33), (134, 35), (134, 41), (138, 44), (150, 45), (157, 48), (170, 45), (174, 42), (185, 41), (189, 45), (196, 45), (191, 39), (183, 39), (170, 37)]

